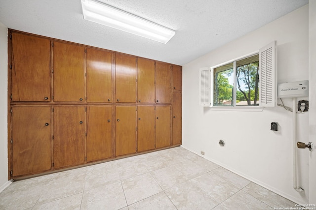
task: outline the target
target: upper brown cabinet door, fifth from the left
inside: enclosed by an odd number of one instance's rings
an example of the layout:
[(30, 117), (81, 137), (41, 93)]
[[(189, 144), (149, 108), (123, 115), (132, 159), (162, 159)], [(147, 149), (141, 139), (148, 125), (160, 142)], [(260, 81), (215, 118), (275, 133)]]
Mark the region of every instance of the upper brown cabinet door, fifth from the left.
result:
[(155, 61), (137, 59), (137, 101), (155, 103)]

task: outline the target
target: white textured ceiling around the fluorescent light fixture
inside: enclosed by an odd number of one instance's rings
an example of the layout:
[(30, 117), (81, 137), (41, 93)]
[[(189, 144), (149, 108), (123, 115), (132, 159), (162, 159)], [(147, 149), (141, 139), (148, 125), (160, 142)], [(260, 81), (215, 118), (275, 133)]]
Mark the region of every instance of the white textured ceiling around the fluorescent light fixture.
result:
[(10, 29), (183, 65), (308, 0), (100, 0), (176, 31), (167, 44), (85, 21), (80, 0), (0, 0)]

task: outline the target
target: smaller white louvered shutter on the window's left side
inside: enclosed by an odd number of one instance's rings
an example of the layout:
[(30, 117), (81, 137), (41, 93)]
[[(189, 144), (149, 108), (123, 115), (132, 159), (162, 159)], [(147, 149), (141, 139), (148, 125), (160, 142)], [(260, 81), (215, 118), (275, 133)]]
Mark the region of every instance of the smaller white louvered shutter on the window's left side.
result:
[(199, 104), (210, 106), (210, 69), (199, 69)]

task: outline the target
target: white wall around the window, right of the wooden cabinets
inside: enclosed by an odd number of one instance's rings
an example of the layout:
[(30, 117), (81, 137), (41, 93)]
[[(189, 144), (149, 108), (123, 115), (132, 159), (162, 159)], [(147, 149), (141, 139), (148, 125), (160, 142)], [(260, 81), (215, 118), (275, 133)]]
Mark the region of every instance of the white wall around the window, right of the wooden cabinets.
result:
[[(277, 40), (278, 82), (309, 79), (308, 5), (183, 66), (182, 146), (294, 202), (308, 203), (308, 152), (298, 151), (298, 185), (292, 187), (292, 113), (214, 111), (198, 105), (198, 70), (257, 51)], [(301, 98), (307, 99), (307, 98)], [(284, 100), (292, 106), (291, 100)], [(308, 141), (309, 114), (298, 118), (298, 140)], [(271, 122), (279, 131), (271, 131)], [(225, 146), (218, 141), (223, 139)]]

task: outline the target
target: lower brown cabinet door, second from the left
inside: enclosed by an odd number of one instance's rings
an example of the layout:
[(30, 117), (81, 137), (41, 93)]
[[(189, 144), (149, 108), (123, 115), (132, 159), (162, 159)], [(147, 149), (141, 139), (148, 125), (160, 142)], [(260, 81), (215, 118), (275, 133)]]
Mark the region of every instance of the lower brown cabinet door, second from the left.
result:
[(54, 168), (84, 163), (84, 107), (54, 107)]

